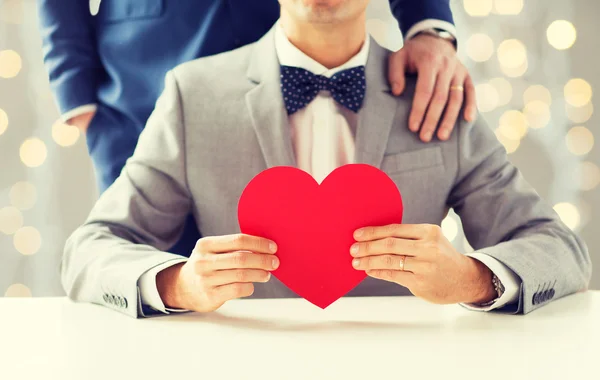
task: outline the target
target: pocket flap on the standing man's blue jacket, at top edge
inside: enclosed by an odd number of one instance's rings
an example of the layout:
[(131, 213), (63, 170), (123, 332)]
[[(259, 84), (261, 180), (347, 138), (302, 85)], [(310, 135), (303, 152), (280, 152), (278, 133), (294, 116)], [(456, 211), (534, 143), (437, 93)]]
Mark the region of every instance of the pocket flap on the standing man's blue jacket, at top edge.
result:
[(101, 22), (121, 22), (157, 18), (163, 15), (165, 0), (102, 0), (98, 10)]

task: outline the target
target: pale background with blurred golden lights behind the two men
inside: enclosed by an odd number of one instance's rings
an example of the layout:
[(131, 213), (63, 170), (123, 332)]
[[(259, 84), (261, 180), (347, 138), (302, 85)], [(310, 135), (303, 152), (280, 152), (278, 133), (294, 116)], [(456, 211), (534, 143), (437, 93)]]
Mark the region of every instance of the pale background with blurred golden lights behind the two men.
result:
[[(397, 50), (387, 4), (372, 1), (368, 27)], [(480, 112), (600, 267), (600, 1), (455, 0), (452, 8)], [(64, 241), (97, 197), (84, 136), (57, 120), (35, 0), (0, 0), (0, 296), (64, 294)], [(442, 227), (471, 250), (454, 213)], [(600, 271), (591, 288), (600, 289)]]

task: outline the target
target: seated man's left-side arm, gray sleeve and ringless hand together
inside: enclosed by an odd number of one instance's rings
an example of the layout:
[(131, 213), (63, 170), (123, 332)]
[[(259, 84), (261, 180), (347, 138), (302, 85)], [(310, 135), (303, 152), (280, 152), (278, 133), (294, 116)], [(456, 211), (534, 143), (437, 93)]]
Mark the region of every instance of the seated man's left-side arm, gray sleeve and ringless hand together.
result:
[(242, 234), (200, 239), (189, 259), (165, 252), (179, 239), (193, 202), (175, 77), (167, 74), (121, 176), (67, 241), (61, 276), (73, 300), (132, 317), (209, 312), (251, 295), (253, 283), (267, 282), (279, 265), (274, 242)]

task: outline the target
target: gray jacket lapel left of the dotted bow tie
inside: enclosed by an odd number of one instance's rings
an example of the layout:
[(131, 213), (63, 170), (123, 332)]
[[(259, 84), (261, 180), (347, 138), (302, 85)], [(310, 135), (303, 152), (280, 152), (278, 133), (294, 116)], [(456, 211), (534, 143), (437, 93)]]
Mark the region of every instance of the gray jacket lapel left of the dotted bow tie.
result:
[(267, 167), (295, 167), (274, 36), (272, 29), (253, 47), (247, 76), (256, 86), (246, 94), (246, 104)]

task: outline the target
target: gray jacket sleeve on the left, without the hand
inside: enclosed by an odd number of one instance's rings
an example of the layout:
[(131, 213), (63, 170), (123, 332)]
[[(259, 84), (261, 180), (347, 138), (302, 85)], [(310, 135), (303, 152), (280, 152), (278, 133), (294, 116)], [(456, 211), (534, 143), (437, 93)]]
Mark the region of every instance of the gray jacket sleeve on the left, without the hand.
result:
[(67, 240), (61, 278), (67, 295), (144, 316), (137, 282), (181, 256), (167, 253), (191, 210), (181, 99), (173, 73), (133, 156), (88, 220)]

